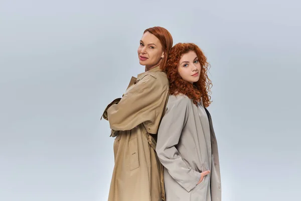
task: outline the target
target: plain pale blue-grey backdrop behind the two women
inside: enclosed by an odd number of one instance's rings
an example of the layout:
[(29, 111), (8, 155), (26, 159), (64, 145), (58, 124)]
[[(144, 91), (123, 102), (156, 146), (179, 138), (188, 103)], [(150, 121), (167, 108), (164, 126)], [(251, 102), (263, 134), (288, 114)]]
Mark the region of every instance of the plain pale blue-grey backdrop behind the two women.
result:
[(194, 42), (212, 67), (209, 107), (224, 201), (298, 200), (297, 1), (0, 2), (0, 200), (106, 200), (106, 105), (142, 72), (144, 29)]

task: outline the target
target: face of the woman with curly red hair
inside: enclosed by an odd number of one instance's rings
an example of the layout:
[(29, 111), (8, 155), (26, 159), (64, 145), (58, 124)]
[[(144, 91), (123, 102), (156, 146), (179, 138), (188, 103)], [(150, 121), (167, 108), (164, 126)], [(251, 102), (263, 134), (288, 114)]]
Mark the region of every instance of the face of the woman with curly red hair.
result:
[(201, 64), (194, 51), (182, 55), (178, 64), (178, 72), (185, 81), (190, 83), (199, 81)]

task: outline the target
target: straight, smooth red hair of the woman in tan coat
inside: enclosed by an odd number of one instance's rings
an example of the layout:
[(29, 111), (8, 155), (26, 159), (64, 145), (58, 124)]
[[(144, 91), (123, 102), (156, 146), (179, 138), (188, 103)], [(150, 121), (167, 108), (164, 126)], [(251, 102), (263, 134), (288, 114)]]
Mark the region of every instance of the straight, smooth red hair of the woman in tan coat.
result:
[(149, 32), (149, 33), (155, 35), (161, 42), (162, 49), (164, 52), (164, 58), (160, 64), (160, 68), (161, 68), (161, 70), (163, 70), (164, 66), (166, 65), (169, 53), (173, 47), (173, 37), (172, 37), (171, 33), (163, 27), (148, 28), (143, 33), (145, 33), (145, 32)]

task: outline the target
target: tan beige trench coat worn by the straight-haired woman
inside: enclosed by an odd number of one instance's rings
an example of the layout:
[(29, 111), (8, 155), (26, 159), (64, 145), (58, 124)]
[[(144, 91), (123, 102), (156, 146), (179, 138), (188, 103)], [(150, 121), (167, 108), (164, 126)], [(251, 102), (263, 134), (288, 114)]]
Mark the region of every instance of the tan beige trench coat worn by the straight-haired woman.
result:
[(132, 77), (123, 97), (104, 111), (111, 136), (117, 136), (109, 201), (165, 200), (164, 170), (155, 152), (155, 138), (168, 96), (169, 81), (158, 66)]

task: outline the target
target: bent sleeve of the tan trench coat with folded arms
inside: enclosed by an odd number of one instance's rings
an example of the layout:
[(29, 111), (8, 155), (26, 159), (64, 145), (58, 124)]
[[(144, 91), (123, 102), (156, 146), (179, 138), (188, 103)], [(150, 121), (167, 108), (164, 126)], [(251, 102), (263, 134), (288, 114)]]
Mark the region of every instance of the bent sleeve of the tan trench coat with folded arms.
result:
[(159, 100), (166, 94), (168, 85), (151, 75), (144, 76), (124, 93), (118, 104), (107, 110), (110, 128), (115, 131), (131, 130), (141, 123), (151, 125), (156, 118)]

